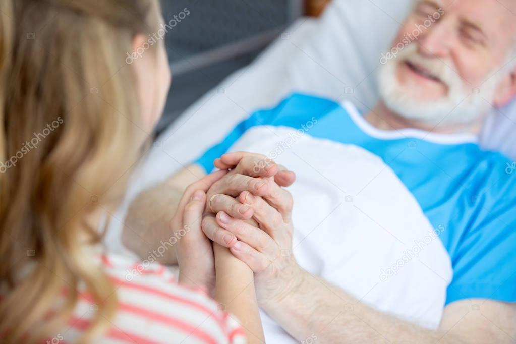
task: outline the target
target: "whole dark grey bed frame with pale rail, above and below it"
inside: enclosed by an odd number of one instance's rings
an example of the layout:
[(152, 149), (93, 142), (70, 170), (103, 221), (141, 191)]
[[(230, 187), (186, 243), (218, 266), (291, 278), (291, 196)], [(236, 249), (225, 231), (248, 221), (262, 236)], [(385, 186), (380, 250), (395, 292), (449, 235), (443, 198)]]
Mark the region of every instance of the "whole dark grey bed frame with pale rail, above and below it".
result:
[(156, 134), (226, 76), (249, 64), (303, 14), (304, 1), (162, 0), (162, 7), (169, 24), (165, 42), (173, 83)]

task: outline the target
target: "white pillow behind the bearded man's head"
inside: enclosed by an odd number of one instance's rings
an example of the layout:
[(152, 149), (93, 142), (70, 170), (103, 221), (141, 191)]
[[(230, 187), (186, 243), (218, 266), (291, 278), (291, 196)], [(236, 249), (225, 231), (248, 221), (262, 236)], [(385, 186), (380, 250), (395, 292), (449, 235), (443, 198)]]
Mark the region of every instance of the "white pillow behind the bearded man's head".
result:
[[(378, 100), (377, 69), (412, 0), (333, 0), (289, 66), (301, 92), (349, 100), (361, 111)], [(516, 159), (516, 102), (487, 121), (481, 144)]]

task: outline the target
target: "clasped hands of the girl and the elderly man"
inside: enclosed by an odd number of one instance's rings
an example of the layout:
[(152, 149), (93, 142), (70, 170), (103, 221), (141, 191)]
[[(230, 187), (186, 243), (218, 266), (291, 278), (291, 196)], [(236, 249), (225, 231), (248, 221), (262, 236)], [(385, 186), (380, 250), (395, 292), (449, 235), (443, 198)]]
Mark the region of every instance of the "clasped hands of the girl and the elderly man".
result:
[(172, 220), (181, 229), (176, 254), (180, 283), (208, 291), (215, 283), (212, 241), (227, 247), (254, 272), (258, 302), (274, 303), (295, 287), (301, 269), (292, 255), (292, 195), (295, 180), (266, 157), (230, 153), (220, 169), (186, 189)]

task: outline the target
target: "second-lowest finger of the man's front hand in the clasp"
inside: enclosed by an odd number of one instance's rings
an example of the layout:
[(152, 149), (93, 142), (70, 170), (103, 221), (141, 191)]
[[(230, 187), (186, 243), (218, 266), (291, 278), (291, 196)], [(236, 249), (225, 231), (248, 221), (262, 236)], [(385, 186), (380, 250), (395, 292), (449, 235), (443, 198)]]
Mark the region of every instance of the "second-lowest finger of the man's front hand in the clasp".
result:
[(278, 255), (278, 244), (260, 228), (256, 228), (245, 221), (234, 219), (224, 211), (220, 211), (215, 219), (222, 228), (236, 235), (238, 240), (244, 241), (253, 249), (268, 257)]

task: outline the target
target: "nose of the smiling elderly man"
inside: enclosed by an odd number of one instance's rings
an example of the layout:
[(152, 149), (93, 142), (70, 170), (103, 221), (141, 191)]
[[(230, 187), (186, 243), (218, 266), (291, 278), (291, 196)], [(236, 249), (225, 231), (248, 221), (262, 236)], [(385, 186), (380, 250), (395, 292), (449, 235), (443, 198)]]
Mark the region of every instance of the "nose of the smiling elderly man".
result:
[(453, 23), (445, 18), (434, 22), (419, 38), (419, 52), (428, 57), (447, 57), (452, 46)]

